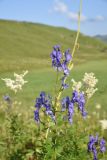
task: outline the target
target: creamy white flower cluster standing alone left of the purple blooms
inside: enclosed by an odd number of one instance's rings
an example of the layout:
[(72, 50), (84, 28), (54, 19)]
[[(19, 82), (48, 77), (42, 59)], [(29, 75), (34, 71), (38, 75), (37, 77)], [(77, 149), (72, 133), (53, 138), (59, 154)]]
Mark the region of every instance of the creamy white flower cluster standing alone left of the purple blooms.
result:
[(24, 71), (23, 74), (14, 73), (15, 80), (12, 80), (10, 78), (5, 78), (2, 80), (5, 82), (7, 87), (9, 87), (11, 90), (13, 90), (16, 93), (18, 90), (22, 89), (22, 86), (25, 83), (27, 83), (27, 81), (24, 80), (24, 76), (27, 73), (28, 73), (28, 71)]

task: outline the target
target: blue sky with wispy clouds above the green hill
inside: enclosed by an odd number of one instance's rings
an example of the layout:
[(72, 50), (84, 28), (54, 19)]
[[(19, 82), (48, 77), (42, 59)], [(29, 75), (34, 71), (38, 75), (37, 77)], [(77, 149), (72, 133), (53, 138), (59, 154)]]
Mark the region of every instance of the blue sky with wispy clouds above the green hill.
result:
[[(0, 19), (77, 30), (79, 0), (0, 0)], [(107, 0), (83, 0), (81, 32), (107, 35)]]

